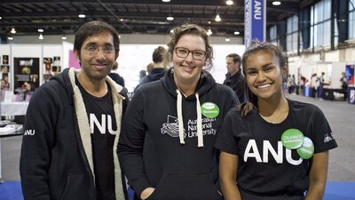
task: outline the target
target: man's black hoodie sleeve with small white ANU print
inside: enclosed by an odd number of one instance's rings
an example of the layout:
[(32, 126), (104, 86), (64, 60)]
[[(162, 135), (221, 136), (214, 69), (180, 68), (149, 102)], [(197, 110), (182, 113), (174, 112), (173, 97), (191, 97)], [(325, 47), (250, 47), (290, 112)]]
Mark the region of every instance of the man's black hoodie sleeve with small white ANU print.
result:
[(54, 144), (57, 97), (39, 88), (28, 104), (20, 153), (20, 178), (26, 200), (51, 200), (48, 171)]

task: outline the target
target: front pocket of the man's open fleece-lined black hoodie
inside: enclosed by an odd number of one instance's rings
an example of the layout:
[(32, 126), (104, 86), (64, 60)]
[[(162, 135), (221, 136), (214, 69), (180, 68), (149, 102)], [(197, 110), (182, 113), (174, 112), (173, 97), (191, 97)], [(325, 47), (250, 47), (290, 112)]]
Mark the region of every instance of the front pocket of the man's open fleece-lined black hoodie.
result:
[(87, 174), (68, 174), (67, 184), (60, 200), (91, 199), (91, 184)]

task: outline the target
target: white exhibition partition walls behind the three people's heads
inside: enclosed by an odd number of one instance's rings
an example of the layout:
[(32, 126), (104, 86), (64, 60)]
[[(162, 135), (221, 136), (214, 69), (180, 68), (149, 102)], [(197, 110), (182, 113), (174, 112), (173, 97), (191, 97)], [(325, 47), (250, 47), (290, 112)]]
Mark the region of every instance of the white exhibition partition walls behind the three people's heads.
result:
[[(139, 38), (136, 39), (138, 42), (140, 39), (142, 39), (141, 37), (134, 38)], [(225, 80), (225, 74), (227, 72), (225, 67), (225, 56), (232, 52), (236, 52), (242, 55), (245, 47), (243, 44), (233, 44), (231, 41), (229, 43), (226, 43), (225, 41), (222, 42), (220, 41), (222, 38), (212, 38), (210, 43), (214, 48), (214, 68), (210, 71), (210, 73), (215, 77), (217, 83), (222, 84)], [(130, 38), (130, 36), (127, 36), (125, 39), (123, 39), (122, 36), (121, 38), (120, 55), (117, 59), (119, 67), (116, 72), (123, 76), (127, 89), (129, 92), (132, 92), (138, 84), (139, 71), (142, 69), (146, 70), (146, 65), (153, 61), (152, 54), (154, 48), (156, 48), (158, 45), (167, 47), (166, 43), (169, 37), (163, 38), (162, 36), (145, 36), (144, 40), (152, 42), (152, 44), (124, 43), (123, 41), (126, 39), (130, 40), (133, 39), (133, 37)], [(166, 40), (166, 42), (155, 44), (153, 43), (162, 40)], [(133, 41), (130, 40), (130, 42)], [(71, 51), (73, 50), (73, 45), (73, 43), (70, 43), (67, 40), (65, 42), (60, 41), (59, 44), (1, 44), (0, 52), (1, 54), (7, 53), (9, 55), (11, 68), (13, 68), (12, 61), (15, 57), (40, 58), (40, 82), (43, 83), (43, 58), (53, 58), (54, 56), (59, 56), (61, 70), (67, 68), (69, 67), (69, 54), (72, 53)], [(13, 83), (13, 73), (11, 81)], [(11, 89), (13, 90), (12, 85), (13, 84), (11, 84)]]

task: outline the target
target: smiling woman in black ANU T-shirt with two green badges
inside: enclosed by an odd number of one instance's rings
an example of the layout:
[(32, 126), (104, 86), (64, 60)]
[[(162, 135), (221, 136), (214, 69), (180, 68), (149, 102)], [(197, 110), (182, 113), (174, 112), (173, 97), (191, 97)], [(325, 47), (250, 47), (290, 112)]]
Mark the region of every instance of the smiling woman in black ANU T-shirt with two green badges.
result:
[(252, 41), (243, 54), (248, 101), (228, 112), (215, 144), (225, 200), (323, 197), (337, 144), (319, 108), (285, 98), (285, 61), (267, 42)]

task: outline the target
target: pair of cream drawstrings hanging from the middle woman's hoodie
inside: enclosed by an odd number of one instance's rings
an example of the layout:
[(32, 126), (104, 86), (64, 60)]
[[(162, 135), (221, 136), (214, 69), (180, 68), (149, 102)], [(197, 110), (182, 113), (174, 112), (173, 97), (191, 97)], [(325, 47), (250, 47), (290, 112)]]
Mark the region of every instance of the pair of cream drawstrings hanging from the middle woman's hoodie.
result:
[[(185, 144), (184, 136), (184, 121), (183, 121), (183, 111), (182, 111), (182, 95), (177, 89), (177, 124), (178, 124), (178, 137), (180, 139), (180, 144)], [(202, 135), (202, 116), (201, 116), (201, 104), (199, 99), (199, 93), (195, 93), (196, 97), (196, 112), (197, 112), (197, 147), (203, 148), (203, 135)]]

